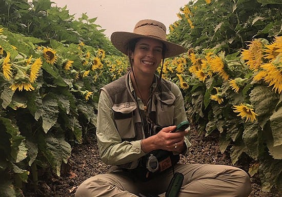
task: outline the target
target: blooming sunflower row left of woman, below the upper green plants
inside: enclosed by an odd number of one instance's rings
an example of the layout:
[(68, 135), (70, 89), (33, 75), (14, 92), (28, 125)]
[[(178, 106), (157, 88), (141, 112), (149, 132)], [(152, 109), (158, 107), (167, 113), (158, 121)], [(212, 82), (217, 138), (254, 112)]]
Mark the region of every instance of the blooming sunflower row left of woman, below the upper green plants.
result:
[(61, 174), (71, 145), (95, 132), (99, 88), (128, 66), (84, 43), (48, 43), (0, 26), (1, 196), (16, 196), (29, 174), (37, 183), (39, 170)]

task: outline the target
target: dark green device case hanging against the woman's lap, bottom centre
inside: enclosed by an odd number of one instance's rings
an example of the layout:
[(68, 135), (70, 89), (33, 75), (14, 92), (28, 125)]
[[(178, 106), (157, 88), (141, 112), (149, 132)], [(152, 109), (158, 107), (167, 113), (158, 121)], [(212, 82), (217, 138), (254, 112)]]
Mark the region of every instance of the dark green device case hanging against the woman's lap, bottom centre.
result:
[(177, 197), (178, 192), (182, 187), (183, 180), (184, 175), (182, 173), (176, 172), (169, 183), (166, 197)]

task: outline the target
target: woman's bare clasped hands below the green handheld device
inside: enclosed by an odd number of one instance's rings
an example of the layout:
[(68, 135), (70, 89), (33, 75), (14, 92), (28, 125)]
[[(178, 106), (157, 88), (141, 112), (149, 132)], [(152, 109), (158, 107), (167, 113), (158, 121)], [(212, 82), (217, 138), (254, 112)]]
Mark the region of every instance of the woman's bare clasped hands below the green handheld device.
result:
[(142, 149), (144, 152), (162, 149), (168, 151), (182, 152), (184, 150), (185, 131), (172, 133), (176, 126), (165, 127), (157, 134), (142, 140)]

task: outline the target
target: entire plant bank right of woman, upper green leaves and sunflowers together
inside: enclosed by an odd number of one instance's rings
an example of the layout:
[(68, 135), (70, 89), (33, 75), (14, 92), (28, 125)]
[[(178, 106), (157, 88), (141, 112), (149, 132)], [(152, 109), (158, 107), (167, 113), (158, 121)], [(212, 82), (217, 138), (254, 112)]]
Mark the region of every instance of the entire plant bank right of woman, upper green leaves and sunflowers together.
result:
[[(243, 153), (255, 160), (249, 171), (259, 173), (263, 191), (282, 190), (281, 12), (277, 0), (192, 1), (169, 34), (190, 48), (177, 71), (189, 87), (190, 121), (206, 135), (219, 131), (220, 150), (230, 150), (233, 164)], [(177, 82), (174, 73), (167, 77)]]

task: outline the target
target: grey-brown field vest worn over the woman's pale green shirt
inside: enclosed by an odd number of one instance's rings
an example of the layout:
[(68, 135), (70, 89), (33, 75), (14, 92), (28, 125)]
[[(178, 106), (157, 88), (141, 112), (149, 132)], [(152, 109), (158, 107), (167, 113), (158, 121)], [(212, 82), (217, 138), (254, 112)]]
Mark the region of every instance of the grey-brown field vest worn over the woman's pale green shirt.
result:
[[(135, 141), (145, 138), (145, 131), (142, 126), (141, 115), (137, 107), (134, 92), (130, 91), (129, 77), (130, 72), (101, 88), (110, 99), (115, 127), (123, 141)], [(155, 86), (157, 78), (155, 75)], [(154, 87), (154, 84), (152, 87)], [(148, 105), (150, 119), (155, 125), (160, 127), (173, 125), (176, 97), (171, 92), (171, 87), (172, 82), (162, 79), (160, 85), (156, 87), (157, 89), (154, 91)], [(155, 134), (155, 132), (151, 131), (150, 135)]]

